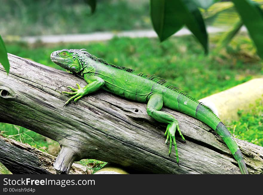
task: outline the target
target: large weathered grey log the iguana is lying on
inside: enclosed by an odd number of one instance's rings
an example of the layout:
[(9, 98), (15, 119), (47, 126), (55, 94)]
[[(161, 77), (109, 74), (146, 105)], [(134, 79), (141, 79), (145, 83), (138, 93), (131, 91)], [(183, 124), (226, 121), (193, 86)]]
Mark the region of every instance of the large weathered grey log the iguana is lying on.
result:
[[(176, 136), (175, 152), (164, 144), (166, 127), (150, 118), (146, 104), (103, 90), (70, 103), (66, 86), (85, 81), (74, 75), (8, 54), (10, 73), (0, 69), (0, 121), (20, 125), (62, 146), (54, 168), (68, 172), (74, 161), (90, 158), (147, 173), (239, 174), (227, 146), (210, 127), (185, 114), (163, 108), (178, 121), (186, 143)], [(236, 140), (248, 171), (262, 174), (263, 148)]]

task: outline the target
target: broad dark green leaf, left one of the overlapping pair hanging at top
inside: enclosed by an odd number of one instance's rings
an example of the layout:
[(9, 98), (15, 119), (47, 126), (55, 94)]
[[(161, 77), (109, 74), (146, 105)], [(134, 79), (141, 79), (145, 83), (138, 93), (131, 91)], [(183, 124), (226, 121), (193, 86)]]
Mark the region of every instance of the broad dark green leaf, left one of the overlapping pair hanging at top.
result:
[(184, 25), (177, 0), (151, 0), (150, 15), (160, 41), (170, 37)]

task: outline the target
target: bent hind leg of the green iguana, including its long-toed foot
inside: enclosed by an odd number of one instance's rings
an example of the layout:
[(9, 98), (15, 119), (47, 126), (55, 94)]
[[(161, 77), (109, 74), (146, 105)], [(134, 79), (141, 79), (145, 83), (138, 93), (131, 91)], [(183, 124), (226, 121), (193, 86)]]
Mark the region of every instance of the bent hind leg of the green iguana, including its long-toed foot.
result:
[(167, 114), (163, 111), (160, 111), (162, 107), (163, 107), (163, 96), (161, 94), (155, 93), (152, 96), (150, 96), (148, 104), (147, 104), (147, 113), (149, 116), (151, 116), (155, 120), (161, 123), (168, 124), (166, 128), (166, 132), (164, 134), (165, 136), (167, 136), (165, 143), (168, 144), (168, 140), (170, 141), (169, 156), (172, 151), (172, 143), (174, 143), (177, 164), (179, 165), (178, 150), (177, 150), (177, 145), (175, 141), (176, 130), (178, 130), (179, 134), (181, 135), (184, 141), (185, 139), (179, 129), (178, 121), (172, 115)]

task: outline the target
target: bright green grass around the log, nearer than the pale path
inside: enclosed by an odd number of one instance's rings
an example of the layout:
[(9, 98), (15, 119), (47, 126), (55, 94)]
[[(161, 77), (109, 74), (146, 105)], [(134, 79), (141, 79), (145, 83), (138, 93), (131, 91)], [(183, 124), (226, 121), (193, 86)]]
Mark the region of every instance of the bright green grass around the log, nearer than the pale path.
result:
[[(106, 42), (59, 45), (6, 43), (6, 47), (9, 53), (58, 69), (61, 68), (51, 62), (49, 57), (53, 51), (63, 48), (86, 48), (91, 54), (110, 63), (134, 68), (137, 73), (156, 74), (201, 99), (252, 78), (262, 77), (262, 61), (259, 61), (255, 54), (249, 53), (250, 49), (246, 53), (240, 50), (244, 44), (251, 46), (251, 42), (243, 36), (238, 38), (240, 40), (235, 40), (225, 52), (216, 53), (212, 49), (208, 56), (204, 55), (203, 49), (192, 36), (170, 38), (161, 44), (157, 39), (114, 38)], [(211, 45), (215, 41), (216, 39), (212, 38)], [(262, 102), (258, 105), (251, 113), (241, 115), (240, 121), (233, 121), (234, 125), (230, 130), (242, 139), (263, 146)], [(43, 136), (25, 128), (2, 123), (0, 130), (7, 135), (16, 135), (13, 136), (16, 140), (42, 150), (49, 147)], [(104, 165), (94, 160), (82, 160), (79, 163), (86, 165), (91, 162), (97, 163), (97, 166), (92, 168), (95, 171)]]

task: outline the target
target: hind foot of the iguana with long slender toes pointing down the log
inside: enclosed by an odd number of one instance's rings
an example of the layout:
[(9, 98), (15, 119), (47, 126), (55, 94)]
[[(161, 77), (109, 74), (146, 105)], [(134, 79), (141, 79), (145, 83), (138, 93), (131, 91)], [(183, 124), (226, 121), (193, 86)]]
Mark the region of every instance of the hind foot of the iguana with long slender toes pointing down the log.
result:
[(178, 150), (177, 150), (177, 145), (176, 145), (176, 141), (175, 141), (175, 132), (176, 132), (176, 130), (178, 130), (179, 134), (181, 135), (181, 138), (185, 141), (184, 136), (182, 135), (182, 133), (180, 131), (180, 128), (179, 128), (177, 120), (173, 121), (171, 124), (167, 125), (166, 132), (164, 133), (164, 136), (167, 136), (165, 144), (168, 144), (168, 140), (170, 141), (169, 156), (171, 155), (171, 152), (172, 152), (172, 142), (174, 143), (176, 160), (177, 160), (177, 164), (179, 166)]

